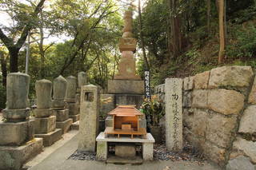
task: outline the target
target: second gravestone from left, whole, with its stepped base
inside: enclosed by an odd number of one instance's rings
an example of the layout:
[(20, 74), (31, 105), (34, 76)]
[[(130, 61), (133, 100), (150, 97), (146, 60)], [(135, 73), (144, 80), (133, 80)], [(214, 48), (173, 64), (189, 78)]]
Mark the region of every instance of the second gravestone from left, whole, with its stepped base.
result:
[(62, 129), (56, 129), (56, 116), (52, 116), (52, 83), (48, 80), (36, 81), (37, 109), (34, 110), (35, 136), (43, 138), (43, 145), (50, 146), (62, 137)]

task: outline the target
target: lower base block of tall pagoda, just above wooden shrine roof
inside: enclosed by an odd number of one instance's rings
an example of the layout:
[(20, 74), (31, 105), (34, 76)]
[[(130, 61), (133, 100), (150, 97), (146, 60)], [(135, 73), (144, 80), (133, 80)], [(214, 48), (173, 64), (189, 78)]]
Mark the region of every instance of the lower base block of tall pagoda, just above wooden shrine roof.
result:
[(142, 105), (144, 95), (136, 94), (115, 94), (116, 105), (136, 105), (136, 108)]

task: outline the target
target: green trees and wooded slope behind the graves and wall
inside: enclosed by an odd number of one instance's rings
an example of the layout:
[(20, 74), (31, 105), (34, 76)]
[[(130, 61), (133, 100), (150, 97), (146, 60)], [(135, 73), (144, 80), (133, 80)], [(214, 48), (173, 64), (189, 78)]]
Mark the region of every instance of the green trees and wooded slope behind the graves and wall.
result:
[[(255, 0), (143, 2), (141, 14), (134, 3), (137, 65), (142, 77), (143, 71), (150, 69), (153, 87), (166, 77), (186, 77), (220, 65), (251, 65), (255, 69)], [(52, 81), (59, 74), (77, 76), (80, 71), (106, 91), (107, 80), (118, 70), (118, 39), (126, 6), (126, 1), (118, 0), (0, 0), (0, 11), (11, 19), (10, 26), (0, 25), (0, 108), (5, 107), (7, 73), (25, 73), (28, 34), (30, 98), (35, 97), (35, 81)], [(225, 51), (219, 53), (222, 7)], [(63, 42), (49, 41), (63, 35)]]

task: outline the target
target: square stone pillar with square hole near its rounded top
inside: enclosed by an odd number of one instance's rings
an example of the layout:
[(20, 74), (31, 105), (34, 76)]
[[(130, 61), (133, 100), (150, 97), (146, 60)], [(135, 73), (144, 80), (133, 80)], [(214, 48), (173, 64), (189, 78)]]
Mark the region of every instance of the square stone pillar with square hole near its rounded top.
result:
[(79, 152), (95, 152), (98, 136), (99, 89), (95, 85), (84, 85), (81, 89)]

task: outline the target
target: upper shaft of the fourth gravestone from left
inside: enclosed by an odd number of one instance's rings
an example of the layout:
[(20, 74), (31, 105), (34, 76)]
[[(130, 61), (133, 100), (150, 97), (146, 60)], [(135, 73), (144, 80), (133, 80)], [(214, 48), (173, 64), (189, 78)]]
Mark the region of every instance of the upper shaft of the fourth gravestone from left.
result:
[(75, 95), (77, 91), (77, 78), (74, 76), (66, 77), (66, 102), (75, 102)]

